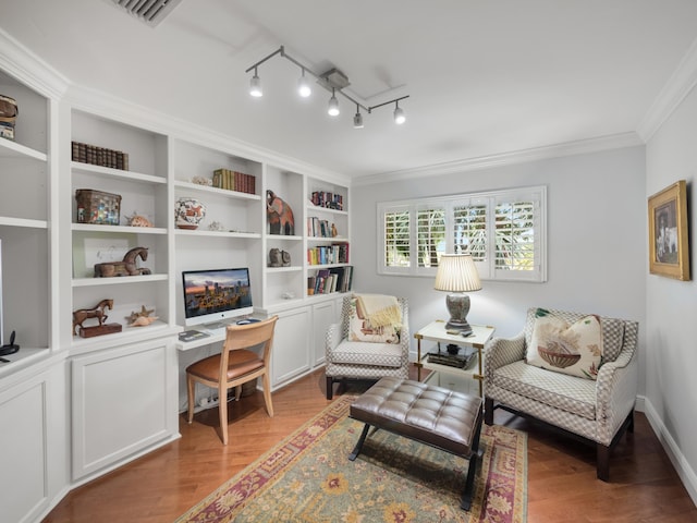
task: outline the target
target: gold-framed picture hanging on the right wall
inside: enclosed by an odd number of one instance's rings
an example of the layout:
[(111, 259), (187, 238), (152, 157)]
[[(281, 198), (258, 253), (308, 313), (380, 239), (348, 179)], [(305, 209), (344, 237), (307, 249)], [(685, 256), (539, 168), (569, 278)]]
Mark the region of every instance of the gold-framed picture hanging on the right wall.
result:
[(687, 281), (687, 184), (680, 180), (649, 196), (649, 272)]

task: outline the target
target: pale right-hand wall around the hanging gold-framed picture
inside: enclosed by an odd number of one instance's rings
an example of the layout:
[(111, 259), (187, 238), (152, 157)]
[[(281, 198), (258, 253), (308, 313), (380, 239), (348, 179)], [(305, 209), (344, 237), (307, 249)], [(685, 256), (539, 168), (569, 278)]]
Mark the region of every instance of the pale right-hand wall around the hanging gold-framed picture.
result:
[(669, 455), (697, 499), (697, 282), (695, 277), (695, 231), (697, 214), (695, 172), (697, 171), (697, 93), (677, 107), (646, 147), (646, 196), (677, 180), (687, 181), (692, 281), (678, 281), (646, 272), (646, 409), (655, 430), (669, 449)]

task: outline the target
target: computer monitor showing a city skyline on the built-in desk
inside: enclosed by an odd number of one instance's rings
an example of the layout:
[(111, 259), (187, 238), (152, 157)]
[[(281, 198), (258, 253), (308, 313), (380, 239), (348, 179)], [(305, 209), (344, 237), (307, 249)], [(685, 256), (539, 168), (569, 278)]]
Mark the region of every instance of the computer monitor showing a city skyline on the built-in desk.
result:
[(249, 269), (207, 269), (182, 272), (187, 327), (218, 328), (230, 318), (254, 312)]

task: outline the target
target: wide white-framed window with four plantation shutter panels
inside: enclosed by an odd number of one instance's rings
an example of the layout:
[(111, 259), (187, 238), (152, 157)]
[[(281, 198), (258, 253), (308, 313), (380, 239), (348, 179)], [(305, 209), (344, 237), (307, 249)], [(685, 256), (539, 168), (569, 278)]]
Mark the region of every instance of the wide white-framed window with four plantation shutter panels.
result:
[(485, 280), (546, 281), (545, 186), (378, 204), (378, 272), (435, 277), (469, 253)]

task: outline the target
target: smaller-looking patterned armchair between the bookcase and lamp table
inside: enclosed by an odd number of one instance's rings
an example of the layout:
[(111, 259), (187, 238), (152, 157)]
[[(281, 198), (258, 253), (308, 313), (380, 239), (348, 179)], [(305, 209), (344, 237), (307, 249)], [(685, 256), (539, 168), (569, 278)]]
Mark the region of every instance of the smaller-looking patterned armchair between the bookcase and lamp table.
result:
[(383, 376), (408, 378), (409, 324), (406, 299), (396, 299), (401, 325), (390, 329), (363, 328), (356, 297), (345, 296), (341, 319), (332, 324), (326, 337), (327, 399), (333, 385), (346, 379), (380, 379)]

